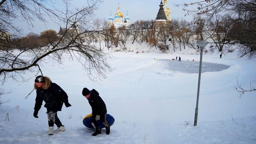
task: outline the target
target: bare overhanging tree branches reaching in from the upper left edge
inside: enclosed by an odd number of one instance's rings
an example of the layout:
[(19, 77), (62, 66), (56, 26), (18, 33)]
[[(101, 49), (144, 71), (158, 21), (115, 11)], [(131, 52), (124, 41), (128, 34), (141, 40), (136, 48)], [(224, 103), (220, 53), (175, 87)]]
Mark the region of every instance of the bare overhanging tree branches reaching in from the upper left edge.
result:
[[(3, 1), (2, 1), (3, 2)], [(102, 34), (102, 28), (94, 28), (90, 23), (93, 12), (102, 2), (101, 0), (88, 0), (85, 5), (75, 10), (70, 10), (70, 1), (64, 1), (66, 9), (59, 10), (49, 5), (50, 0), (9, 0), (0, 6), (0, 14), (11, 14), (15, 19), (20, 14), (29, 24), (33, 25), (33, 20), (37, 18), (45, 22), (47, 17), (58, 20), (56, 23), (65, 25), (64, 33), (59, 37), (47, 34), (46, 36), (36, 36), (29, 34), (22, 38), (13, 38), (10, 41), (2, 40), (0, 45), (0, 79), (2, 84), (8, 78), (22, 81), (26, 80), (23, 74), (26, 71), (35, 72), (38, 69), (43, 75), (40, 66), (44, 65), (48, 59), (62, 63), (65, 57), (76, 58), (83, 65), (91, 80), (105, 78), (105, 73), (111, 71), (108, 65), (108, 54), (105, 54), (93, 43), (88, 43), (95, 34)], [(31, 7), (33, 5), (34, 7)], [(12, 6), (12, 7), (10, 7)], [(38, 8), (38, 11), (33, 11)], [(0, 21), (0, 23), (2, 23)], [(12, 23), (11, 23), (12, 24)], [(5, 25), (0, 29), (14, 29), (15, 25)], [(24, 41), (24, 46), (21, 41)], [(42, 42), (41, 40), (44, 40)], [(27, 47), (28, 42), (32, 42), (31, 47)], [(39, 72), (38, 71), (38, 72)]]

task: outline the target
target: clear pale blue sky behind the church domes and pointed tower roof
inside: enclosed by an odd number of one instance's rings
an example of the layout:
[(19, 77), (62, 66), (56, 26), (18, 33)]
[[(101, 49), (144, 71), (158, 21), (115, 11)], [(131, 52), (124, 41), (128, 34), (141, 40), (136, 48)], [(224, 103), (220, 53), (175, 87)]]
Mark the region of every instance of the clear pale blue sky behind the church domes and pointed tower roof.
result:
[[(79, 7), (84, 5), (84, 0), (73, 0), (72, 7)], [(167, 0), (167, 5), (171, 8), (171, 20), (175, 18), (184, 18), (186, 20), (192, 20), (192, 16), (184, 17), (185, 11), (182, 10), (182, 7), (175, 7), (175, 4), (183, 4), (187, 0)], [(128, 16), (130, 17), (131, 23), (134, 23), (136, 20), (154, 20), (157, 16), (159, 10), (159, 4), (161, 0), (103, 0), (103, 3), (99, 6), (99, 9), (95, 11), (95, 18), (99, 19), (108, 19), (110, 17), (110, 11), (112, 11), (112, 16), (116, 14), (116, 8), (118, 3), (120, 10), (124, 17), (128, 11)], [(56, 0), (56, 3), (59, 3)], [(20, 23), (21, 28), (24, 29), (23, 34), (28, 34), (29, 32), (34, 32), (40, 34), (41, 31), (47, 29), (53, 29), (56, 32), (59, 30), (58, 24), (55, 23), (40, 23), (35, 22), (34, 28), (27, 28), (26, 23)], [(63, 25), (64, 26), (64, 25)]]

